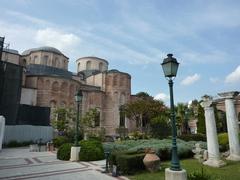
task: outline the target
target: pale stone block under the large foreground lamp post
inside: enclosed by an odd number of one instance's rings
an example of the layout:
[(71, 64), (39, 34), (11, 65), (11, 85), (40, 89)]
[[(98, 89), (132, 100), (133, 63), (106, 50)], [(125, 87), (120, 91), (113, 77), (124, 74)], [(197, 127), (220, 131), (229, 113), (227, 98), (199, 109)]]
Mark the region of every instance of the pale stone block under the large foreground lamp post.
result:
[(166, 168), (165, 180), (187, 180), (187, 172), (184, 169), (181, 171), (173, 171), (170, 168)]

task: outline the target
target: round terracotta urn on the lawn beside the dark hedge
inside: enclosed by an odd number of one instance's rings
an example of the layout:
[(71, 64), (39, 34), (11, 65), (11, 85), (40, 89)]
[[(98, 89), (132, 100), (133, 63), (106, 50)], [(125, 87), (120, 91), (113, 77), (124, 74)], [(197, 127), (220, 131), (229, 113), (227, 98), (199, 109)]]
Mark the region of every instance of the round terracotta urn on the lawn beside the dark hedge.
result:
[(146, 169), (150, 172), (155, 172), (159, 170), (160, 167), (160, 158), (155, 154), (154, 151), (149, 151), (143, 159), (143, 164)]

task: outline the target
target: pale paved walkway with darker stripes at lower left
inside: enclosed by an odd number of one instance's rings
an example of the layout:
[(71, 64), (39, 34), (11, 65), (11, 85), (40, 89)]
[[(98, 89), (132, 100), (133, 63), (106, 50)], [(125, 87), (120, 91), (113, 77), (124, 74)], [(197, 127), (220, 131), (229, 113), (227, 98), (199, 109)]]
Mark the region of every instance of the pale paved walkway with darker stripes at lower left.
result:
[(105, 161), (70, 162), (56, 159), (54, 152), (29, 152), (9, 148), (0, 152), (0, 180), (123, 180), (103, 174)]

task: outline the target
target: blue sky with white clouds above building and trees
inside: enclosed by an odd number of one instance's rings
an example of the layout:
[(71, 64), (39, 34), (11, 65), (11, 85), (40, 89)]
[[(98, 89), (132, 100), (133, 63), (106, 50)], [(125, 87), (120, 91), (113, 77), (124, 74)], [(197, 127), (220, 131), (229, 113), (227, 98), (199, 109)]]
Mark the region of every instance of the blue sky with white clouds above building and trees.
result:
[(169, 101), (160, 64), (180, 66), (175, 102), (240, 90), (240, 1), (2, 0), (0, 35), (20, 53), (53, 46), (75, 60), (97, 56), (132, 76), (132, 94)]

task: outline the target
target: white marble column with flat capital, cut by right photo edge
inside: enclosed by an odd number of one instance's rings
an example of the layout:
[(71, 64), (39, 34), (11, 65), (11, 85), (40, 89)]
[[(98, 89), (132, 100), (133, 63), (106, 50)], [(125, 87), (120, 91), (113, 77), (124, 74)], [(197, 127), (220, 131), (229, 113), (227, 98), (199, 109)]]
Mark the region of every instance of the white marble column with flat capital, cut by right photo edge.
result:
[(240, 145), (239, 145), (239, 125), (237, 119), (237, 112), (234, 106), (234, 97), (237, 96), (239, 92), (231, 91), (219, 93), (218, 95), (225, 98), (225, 108), (227, 116), (227, 130), (228, 130), (228, 140), (230, 155), (227, 157), (228, 160), (240, 161)]

